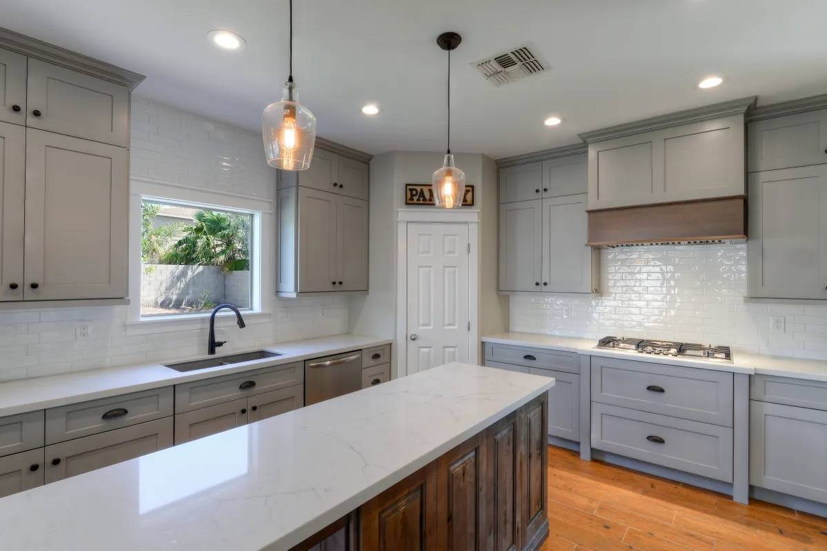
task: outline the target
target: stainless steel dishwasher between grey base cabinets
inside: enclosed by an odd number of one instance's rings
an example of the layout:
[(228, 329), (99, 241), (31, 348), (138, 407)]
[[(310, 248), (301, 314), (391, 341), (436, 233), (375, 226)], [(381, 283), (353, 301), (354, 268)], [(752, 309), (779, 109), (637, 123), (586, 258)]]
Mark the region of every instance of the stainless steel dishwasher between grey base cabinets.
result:
[(361, 350), (304, 362), (304, 405), (361, 389)]

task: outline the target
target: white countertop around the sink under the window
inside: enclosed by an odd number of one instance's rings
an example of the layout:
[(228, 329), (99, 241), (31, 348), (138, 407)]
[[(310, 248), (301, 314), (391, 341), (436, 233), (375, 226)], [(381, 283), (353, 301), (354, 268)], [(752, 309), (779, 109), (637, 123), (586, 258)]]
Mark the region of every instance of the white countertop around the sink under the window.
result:
[[(138, 392), (148, 388), (165, 387), (179, 382), (197, 381), (198, 379), (231, 373), (243, 373), (251, 369), (293, 363), (390, 342), (390, 339), (365, 335), (333, 335), (318, 339), (278, 343), (262, 348), (284, 354), (275, 358), (198, 369), (188, 373), (179, 373), (160, 363), (146, 363), (2, 382), (0, 383), (0, 416), (42, 410), (47, 407), (65, 406), (79, 401), (116, 396), (126, 392)], [(225, 352), (218, 349), (217, 355), (240, 354), (241, 352), (241, 350), (227, 350)], [(208, 358), (208, 356), (203, 356), (203, 358)], [(175, 363), (180, 361), (182, 360), (174, 360)]]

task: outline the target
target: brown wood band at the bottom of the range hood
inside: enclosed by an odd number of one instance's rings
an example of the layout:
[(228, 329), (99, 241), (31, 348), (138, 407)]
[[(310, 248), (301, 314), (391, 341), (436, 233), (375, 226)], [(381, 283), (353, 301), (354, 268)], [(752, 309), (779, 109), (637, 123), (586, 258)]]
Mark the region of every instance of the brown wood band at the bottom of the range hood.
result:
[(747, 238), (745, 195), (587, 212), (592, 247)]

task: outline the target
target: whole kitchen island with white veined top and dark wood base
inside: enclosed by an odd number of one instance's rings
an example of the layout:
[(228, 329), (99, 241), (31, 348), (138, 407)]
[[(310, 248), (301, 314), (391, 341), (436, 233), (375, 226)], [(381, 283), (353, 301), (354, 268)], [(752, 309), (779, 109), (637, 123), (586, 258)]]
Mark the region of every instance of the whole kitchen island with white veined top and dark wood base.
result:
[(2, 498), (0, 547), (538, 549), (553, 384), (448, 363)]

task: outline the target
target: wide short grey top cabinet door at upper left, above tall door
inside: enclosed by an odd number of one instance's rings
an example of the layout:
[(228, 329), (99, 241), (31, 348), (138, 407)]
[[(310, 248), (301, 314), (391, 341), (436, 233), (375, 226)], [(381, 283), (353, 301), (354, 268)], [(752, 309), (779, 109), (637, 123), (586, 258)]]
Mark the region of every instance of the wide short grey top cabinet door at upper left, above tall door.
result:
[(31, 128), (129, 145), (129, 90), (121, 84), (29, 58), (27, 107)]

